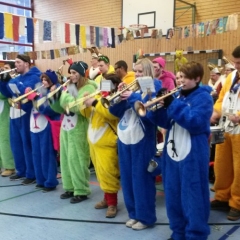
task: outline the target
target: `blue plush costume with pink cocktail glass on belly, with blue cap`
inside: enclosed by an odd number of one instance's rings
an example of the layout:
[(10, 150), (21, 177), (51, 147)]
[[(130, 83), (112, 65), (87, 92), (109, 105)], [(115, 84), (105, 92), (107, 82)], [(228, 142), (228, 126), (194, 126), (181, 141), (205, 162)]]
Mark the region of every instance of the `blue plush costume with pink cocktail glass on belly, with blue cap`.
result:
[[(52, 84), (58, 83), (55, 72), (47, 70), (41, 79)], [(46, 94), (50, 92), (50, 87)], [(43, 96), (44, 97), (44, 96)], [(41, 97), (39, 97), (41, 99)], [(34, 101), (37, 102), (38, 98)], [(48, 101), (39, 108), (33, 107), (30, 116), (30, 132), (32, 142), (32, 156), (37, 186), (44, 192), (54, 190), (58, 185), (56, 151), (53, 147), (53, 138), (50, 121), (60, 120), (60, 114), (54, 112)]]

